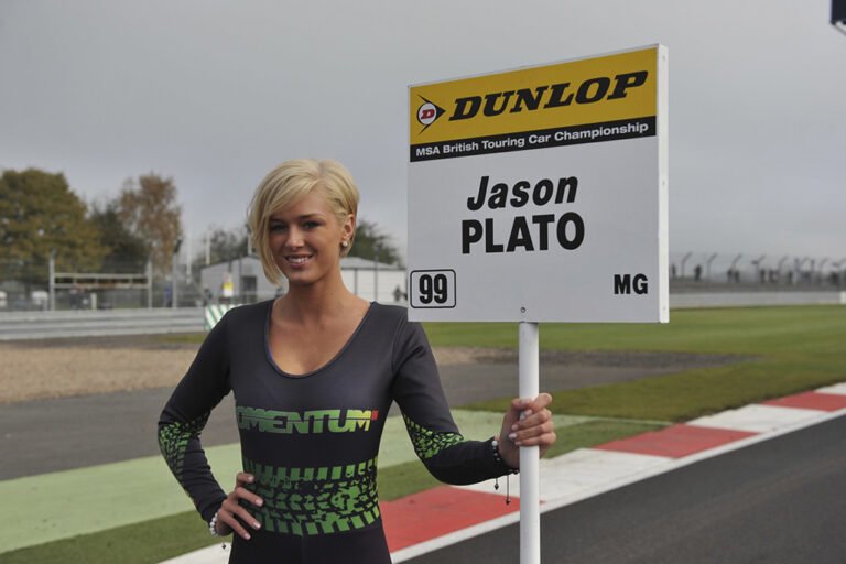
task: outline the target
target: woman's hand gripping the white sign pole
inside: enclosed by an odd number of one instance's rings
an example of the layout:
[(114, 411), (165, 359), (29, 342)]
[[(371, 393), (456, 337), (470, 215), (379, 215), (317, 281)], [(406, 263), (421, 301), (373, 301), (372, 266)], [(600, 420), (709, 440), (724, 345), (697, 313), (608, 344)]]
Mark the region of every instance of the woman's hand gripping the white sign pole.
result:
[(549, 393), (541, 393), (533, 400), (511, 400), (511, 408), (502, 419), (498, 446), (499, 455), (510, 467), (520, 467), (521, 446), (539, 446), (543, 456), (555, 442), (552, 413), (546, 409), (550, 403), (552, 395)]

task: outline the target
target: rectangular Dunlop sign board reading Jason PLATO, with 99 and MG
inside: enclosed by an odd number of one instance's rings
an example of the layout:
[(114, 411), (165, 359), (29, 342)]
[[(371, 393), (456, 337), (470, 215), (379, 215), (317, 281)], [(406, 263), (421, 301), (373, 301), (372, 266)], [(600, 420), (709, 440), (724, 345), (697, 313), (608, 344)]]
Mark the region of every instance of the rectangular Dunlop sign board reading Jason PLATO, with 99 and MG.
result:
[(409, 317), (666, 322), (666, 50), (412, 86)]

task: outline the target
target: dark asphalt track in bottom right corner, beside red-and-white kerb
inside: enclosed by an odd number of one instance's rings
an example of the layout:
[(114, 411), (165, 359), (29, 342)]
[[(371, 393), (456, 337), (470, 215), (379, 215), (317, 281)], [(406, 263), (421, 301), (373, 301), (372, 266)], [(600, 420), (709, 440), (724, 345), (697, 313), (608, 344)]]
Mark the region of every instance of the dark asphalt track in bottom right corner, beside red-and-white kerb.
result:
[[(544, 563), (844, 564), (846, 416), (542, 514)], [(519, 562), (510, 525), (406, 561)]]

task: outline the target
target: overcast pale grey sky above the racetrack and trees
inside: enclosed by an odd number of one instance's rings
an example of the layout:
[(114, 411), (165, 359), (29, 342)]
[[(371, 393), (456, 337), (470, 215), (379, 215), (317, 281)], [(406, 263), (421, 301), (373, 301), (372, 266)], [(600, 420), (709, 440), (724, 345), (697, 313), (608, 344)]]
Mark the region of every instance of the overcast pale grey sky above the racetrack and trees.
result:
[[(0, 0), (0, 167), (172, 176), (194, 237), (279, 162), (344, 162), (404, 250), (408, 85), (662, 43), (670, 249), (846, 259), (831, 0)], [(195, 242), (195, 250), (198, 250)]]

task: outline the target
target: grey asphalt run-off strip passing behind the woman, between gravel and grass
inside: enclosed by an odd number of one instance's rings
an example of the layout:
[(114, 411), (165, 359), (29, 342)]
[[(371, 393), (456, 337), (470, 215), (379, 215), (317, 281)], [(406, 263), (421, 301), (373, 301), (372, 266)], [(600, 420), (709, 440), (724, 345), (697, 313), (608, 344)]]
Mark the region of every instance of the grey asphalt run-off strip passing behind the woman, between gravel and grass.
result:
[[(550, 358), (541, 366), (541, 389), (564, 390), (668, 373), (726, 358), (634, 355)], [(517, 361), (441, 367), (451, 405), (517, 394)], [(0, 480), (156, 455), (156, 422), (172, 390), (37, 400), (0, 405)], [(203, 444), (238, 441), (231, 394), (212, 413)], [(397, 412), (397, 406), (392, 413)], [(494, 432), (496, 430), (491, 430)]]

